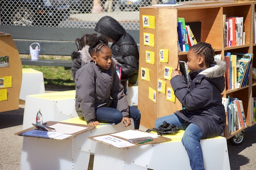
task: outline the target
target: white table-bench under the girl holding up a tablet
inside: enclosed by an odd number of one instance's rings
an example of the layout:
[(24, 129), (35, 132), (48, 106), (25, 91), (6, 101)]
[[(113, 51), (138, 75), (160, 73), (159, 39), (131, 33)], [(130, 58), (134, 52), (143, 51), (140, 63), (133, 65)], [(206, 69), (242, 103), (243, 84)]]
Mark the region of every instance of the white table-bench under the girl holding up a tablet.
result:
[[(191, 170), (189, 157), (181, 142), (184, 131), (167, 135), (171, 142), (145, 144), (119, 149), (96, 143), (93, 170)], [(206, 170), (230, 170), (227, 139), (221, 136), (202, 139)]]

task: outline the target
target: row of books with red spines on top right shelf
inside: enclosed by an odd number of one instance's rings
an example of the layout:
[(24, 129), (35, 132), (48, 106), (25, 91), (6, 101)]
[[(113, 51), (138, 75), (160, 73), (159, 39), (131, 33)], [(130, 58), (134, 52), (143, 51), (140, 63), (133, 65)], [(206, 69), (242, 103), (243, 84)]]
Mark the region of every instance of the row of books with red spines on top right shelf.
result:
[(226, 17), (224, 22), (224, 45), (236, 46), (245, 44), (244, 17)]

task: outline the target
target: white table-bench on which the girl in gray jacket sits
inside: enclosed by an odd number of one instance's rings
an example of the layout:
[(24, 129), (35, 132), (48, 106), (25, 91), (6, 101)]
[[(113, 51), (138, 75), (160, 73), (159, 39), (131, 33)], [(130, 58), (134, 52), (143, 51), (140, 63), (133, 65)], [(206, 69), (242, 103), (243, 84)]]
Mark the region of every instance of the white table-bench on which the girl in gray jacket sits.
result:
[[(86, 124), (84, 119), (79, 117), (62, 122)], [(134, 129), (133, 121), (128, 127), (125, 127), (123, 122), (117, 125), (99, 125), (71, 139), (61, 141), (24, 137), (21, 170), (87, 170), (90, 154), (94, 153), (96, 146), (96, 142), (87, 137), (130, 129)]]

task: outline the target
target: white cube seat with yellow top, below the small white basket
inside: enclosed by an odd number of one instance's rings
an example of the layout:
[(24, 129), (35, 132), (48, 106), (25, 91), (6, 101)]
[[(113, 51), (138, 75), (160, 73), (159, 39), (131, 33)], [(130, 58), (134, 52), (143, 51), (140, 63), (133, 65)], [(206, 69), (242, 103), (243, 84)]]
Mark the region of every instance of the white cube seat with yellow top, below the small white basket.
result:
[(19, 99), (25, 100), (27, 95), (43, 93), (45, 93), (43, 73), (33, 68), (22, 68)]

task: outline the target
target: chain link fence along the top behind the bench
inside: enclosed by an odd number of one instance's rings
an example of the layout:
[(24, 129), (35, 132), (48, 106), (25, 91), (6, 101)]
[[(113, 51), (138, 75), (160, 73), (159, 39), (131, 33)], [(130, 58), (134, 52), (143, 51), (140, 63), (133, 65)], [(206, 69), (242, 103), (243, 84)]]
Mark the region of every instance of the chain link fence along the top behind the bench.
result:
[(139, 8), (168, 1), (0, 0), (0, 17), (1, 24), (11, 26), (94, 28), (101, 17), (108, 15), (125, 29), (139, 30)]

